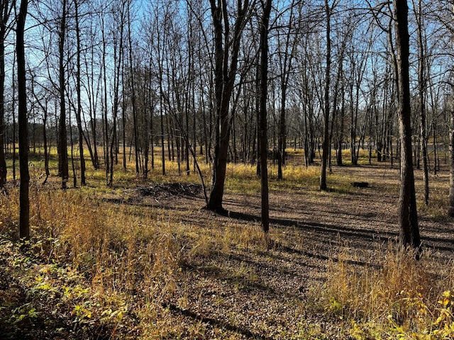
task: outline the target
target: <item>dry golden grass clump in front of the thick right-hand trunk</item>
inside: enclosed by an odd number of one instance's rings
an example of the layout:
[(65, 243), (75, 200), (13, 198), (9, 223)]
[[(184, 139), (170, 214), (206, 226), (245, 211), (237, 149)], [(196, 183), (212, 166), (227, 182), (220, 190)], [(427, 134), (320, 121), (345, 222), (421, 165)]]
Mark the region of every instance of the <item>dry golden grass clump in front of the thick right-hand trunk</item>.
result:
[(390, 244), (372, 264), (352, 263), (345, 247), (328, 266), (323, 310), (355, 339), (454, 339), (454, 267), (430, 254), (416, 261)]

